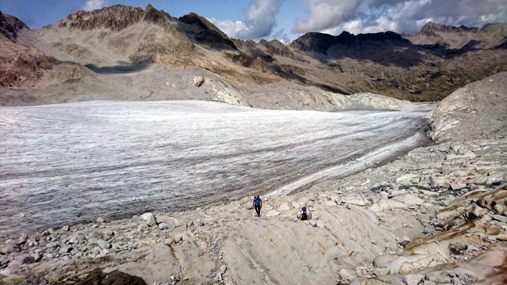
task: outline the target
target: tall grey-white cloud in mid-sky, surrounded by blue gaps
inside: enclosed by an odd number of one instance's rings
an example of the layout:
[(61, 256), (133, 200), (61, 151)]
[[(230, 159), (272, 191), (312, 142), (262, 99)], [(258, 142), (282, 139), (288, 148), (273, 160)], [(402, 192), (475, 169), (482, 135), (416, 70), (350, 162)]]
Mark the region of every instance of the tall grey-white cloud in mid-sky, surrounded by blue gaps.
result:
[(275, 26), (281, 0), (251, 0), (243, 21), (209, 19), (229, 37), (258, 40), (268, 37)]

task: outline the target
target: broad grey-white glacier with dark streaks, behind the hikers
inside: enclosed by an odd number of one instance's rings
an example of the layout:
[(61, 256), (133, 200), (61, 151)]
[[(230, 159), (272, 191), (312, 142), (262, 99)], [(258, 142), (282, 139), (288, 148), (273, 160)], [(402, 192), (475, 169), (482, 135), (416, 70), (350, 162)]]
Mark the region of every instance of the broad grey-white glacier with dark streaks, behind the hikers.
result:
[(386, 146), (416, 147), (412, 136), (425, 115), (207, 101), (1, 108), (0, 236), (183, 210), (344, 175), (386, 158), (379, 151)]

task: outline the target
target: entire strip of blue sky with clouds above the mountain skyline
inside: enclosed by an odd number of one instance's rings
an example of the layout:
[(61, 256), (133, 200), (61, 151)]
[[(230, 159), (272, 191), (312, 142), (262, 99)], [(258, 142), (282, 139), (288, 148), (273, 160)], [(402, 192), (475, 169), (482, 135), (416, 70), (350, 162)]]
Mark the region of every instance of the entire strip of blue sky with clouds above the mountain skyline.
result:
[(428, 21), (481, 27), (507, 22), (507, 0), (0, 0), (0, 10), (40, 28), (79, 10), (124, 4), (206, 17), (230, 37), (288, 43), (308, 31), (413, 33)]

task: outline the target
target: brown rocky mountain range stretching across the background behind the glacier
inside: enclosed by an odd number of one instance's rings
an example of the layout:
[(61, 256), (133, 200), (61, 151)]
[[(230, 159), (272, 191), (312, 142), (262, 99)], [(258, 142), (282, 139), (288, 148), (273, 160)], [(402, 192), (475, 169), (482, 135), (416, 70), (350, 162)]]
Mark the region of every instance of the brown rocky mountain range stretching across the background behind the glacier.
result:
[[(86, 84), (104, 98), (120, 84), (122, 98), (136, 99), (120, 82), (124, 79), (101, 76), (140, 72), (142, 68), (132, 68), (150, 63), (163, 64), (167, 72), (207, 70), (237, 88), (243, 99), (248, 94), (242, 86), (253, 90), (296, 83), (342, 94), (440, 100), (465, 84), (507, 70), (503, 23), (468, 28), (428, 22), (412, 35), (309, 32), (286, 46), (276, 40), (231, 39), (197, 14), (176, 18), (151, 5), (144, 10), (116, 5), (79, 11), (42, 29), (29, 29), (0, 12), (0, 46), (0, 88), (8, 96), (0, 102), (7, 104), (25, 104), (25, 97), (34, 103), (68, 101), (73, 100), (68, 94), (78, 93), (83, 100)], [(62, 94), (65, 99), (55, 97)], [(54, 98), (41, 99), (47, 96)]]

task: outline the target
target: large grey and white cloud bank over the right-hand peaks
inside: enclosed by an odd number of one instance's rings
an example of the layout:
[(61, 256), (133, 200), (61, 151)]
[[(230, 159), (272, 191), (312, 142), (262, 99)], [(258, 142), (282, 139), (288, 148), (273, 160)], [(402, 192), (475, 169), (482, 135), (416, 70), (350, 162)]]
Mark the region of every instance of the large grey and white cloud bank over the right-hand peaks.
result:
[(307, 14), (296, 20), (296, 33), (413, 33), (428, 21), (454, 26), (507, 22), (507, 0), (306, 0), (305, 5)]

